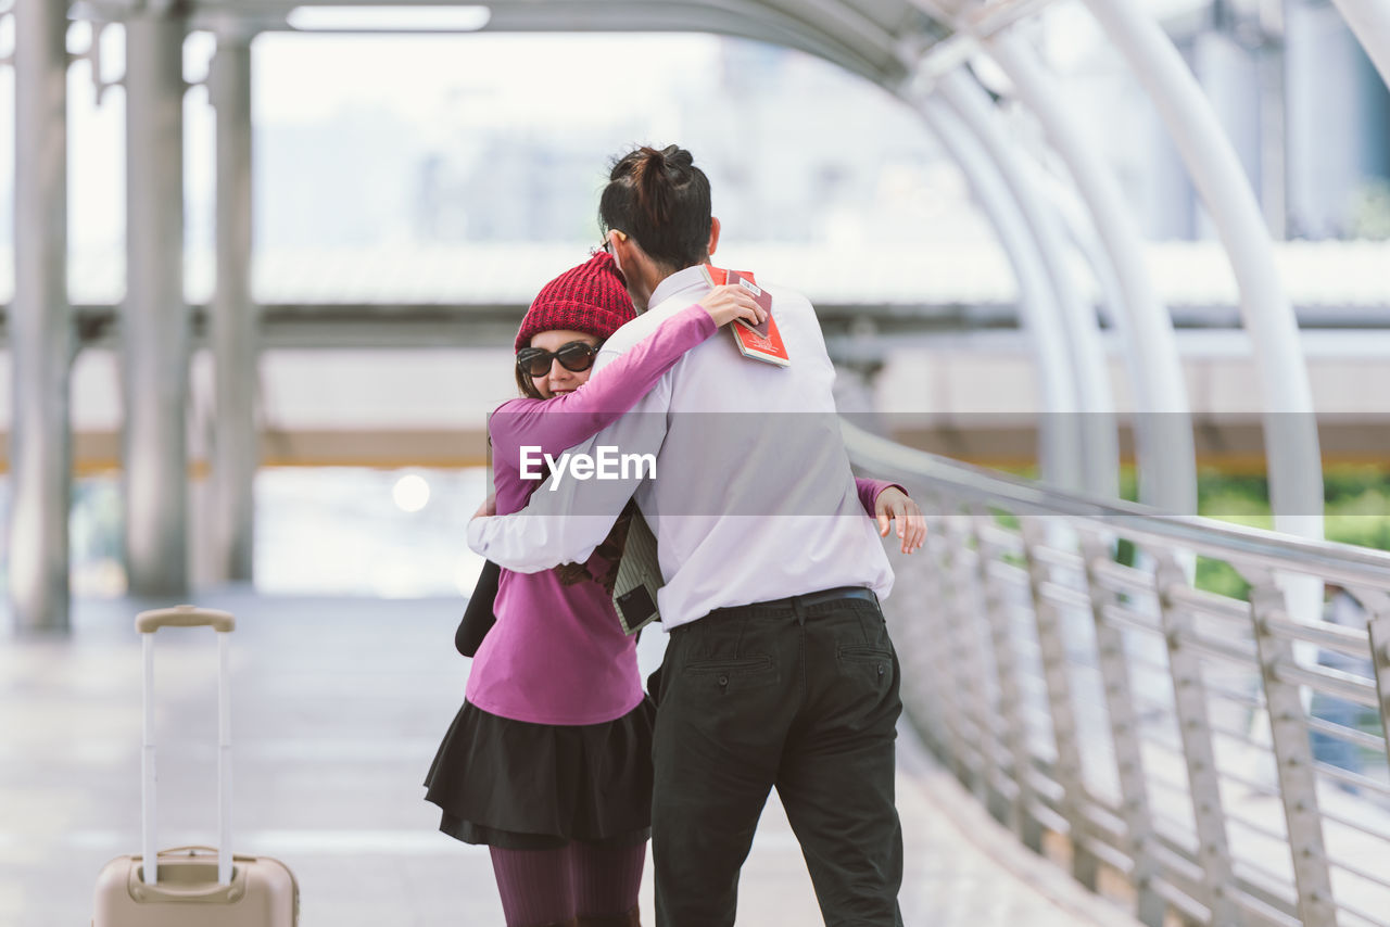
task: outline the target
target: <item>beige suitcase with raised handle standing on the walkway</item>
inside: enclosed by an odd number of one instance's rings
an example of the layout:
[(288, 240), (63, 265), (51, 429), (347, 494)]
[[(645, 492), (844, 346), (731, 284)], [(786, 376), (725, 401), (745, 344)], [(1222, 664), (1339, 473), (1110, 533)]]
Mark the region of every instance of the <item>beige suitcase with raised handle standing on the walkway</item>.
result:
[[(218, 846), (154, 852), (154, 632), (163, 627), (211, 627), (218, 645)], [(142, 846), (117, 856), (96, 883), (93, 927), (296, 927), (299, 884), (278, 859), (231, 855), (232, 745), (227, 612), (181, 605), (142, 612), (135, 630), (145, 648), (145, 738), (140, 755)], [(156, 862), (157, 860), (157, 862)], [(153, 863), (154, 878), (146, 878)]]

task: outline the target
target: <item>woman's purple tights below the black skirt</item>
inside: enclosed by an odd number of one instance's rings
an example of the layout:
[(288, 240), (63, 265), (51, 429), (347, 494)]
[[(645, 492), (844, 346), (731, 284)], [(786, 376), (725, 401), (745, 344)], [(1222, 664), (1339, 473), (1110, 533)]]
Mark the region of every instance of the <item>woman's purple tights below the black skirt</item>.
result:
[(645, 842), (612, 849), (578, 841), (563, 849), (488, 849), (507, 927), (563, 924), (637, 906)]

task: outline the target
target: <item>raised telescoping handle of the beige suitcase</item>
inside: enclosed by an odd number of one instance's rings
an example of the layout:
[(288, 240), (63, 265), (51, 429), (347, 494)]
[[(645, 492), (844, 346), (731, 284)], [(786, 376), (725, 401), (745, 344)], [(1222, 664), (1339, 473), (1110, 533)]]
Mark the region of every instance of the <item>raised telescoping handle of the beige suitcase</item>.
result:
[(140, 742), (140, 855), (145, 883), (158, 881), (158, 853), (154, 845), (154, 632), (160, 628), (200, 628), (217, 631), (217, 881), (232, 881), (232, 692), (231, 649), (228, 634), (236, 618), (227, 612), (179, 605), (135, 616), (135, 630), (143, 637), (145, 649), (145, 724)]

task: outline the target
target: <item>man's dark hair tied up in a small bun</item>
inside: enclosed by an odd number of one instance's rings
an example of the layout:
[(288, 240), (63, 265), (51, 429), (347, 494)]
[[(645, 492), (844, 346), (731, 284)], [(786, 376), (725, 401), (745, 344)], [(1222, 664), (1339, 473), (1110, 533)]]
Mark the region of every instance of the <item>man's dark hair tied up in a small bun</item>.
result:
[(599, 228), (631, 236), (666, 270), (694, 267), (709, 257), (709, 178), (685, 149), (644, 145), (613, 163)]

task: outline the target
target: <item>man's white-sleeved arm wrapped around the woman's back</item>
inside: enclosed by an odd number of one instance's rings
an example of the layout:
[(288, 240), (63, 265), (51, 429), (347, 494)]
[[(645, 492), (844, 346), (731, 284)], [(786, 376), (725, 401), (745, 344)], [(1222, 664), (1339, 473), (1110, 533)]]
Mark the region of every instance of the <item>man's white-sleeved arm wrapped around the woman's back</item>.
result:
[(581, 454), (599, 460), (600, 452), (610, 461), (617, 460), (616, 466), (610, 463), (612, 478), (600, 478), (599, 471), (587, 479), (569, 470), (555, 473), (531, 493), (520, 511), (470, 521), (468, 548), (517, 573), (539, 573), (562, 563), (588, 560), (623, 506), (656, 468), (666, 439), (670, 378), (670, 372), (664, 374), (631, 411), (570, 449), (571, 460)]

